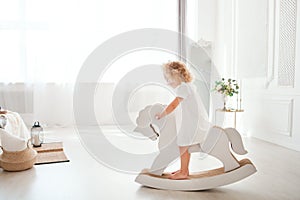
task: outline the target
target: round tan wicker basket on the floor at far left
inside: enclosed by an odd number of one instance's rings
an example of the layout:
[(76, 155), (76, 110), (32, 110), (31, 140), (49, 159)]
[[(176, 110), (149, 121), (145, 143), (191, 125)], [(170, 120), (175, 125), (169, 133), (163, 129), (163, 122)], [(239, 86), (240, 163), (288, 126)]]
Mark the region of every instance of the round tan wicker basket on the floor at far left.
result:
[(3, 153), (0, 155), (0, 167), (6, 171), (23, 171), (32, 168), (36, 162), (37, 152), (29, 147), (22, 151), (6, 151), (0, 146)]

